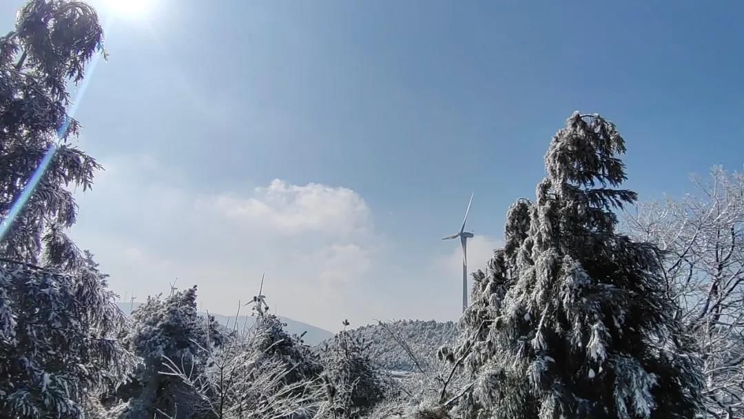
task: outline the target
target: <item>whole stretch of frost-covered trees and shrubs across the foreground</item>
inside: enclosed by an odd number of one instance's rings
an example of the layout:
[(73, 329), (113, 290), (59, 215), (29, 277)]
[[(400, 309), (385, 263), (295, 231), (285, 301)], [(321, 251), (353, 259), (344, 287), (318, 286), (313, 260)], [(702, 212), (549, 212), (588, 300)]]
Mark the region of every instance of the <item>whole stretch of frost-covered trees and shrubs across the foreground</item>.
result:
[(102, 168), (71, 143), (70, 89), (102, 45), (74, 0), (28, 1), (0, 38), (0, 418), (744, 418), (744, 175), (640, 202), (597, 113), (545, 138), (457, 323), (344, 322), (311, 346), (271, 295), (225, 327), (196, 286), (126, 316), (68, 235)]

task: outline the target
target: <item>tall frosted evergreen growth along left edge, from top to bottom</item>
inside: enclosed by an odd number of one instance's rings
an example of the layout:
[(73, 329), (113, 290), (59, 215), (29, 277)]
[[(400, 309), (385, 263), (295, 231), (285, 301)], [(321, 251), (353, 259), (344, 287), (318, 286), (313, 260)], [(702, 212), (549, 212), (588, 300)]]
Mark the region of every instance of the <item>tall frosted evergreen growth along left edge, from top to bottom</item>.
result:
[(1, 418), (80, 418), (132, 360), (106, 275), (65, 234), (70, 189), (99, 167), (70, 142), (67, 88), (102, 40), (92, 7), (69, 0), (29, 1), (0, 37)]

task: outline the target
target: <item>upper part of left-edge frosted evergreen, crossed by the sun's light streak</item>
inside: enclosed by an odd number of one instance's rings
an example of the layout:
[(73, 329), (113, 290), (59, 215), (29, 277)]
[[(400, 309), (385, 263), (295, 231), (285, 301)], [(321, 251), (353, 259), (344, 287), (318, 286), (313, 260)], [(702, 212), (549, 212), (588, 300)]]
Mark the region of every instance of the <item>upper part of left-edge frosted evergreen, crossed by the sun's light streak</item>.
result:
[(83, 80), (102, 41), (92, 7), (69, 0), (29, 1), (0, 38), (0, 256), (83, 262), (65, 234), (77, 214), (69, 188), (90, 188), (99, 165), (70, 143), (80, 125), (67, 113), (67, 87)]

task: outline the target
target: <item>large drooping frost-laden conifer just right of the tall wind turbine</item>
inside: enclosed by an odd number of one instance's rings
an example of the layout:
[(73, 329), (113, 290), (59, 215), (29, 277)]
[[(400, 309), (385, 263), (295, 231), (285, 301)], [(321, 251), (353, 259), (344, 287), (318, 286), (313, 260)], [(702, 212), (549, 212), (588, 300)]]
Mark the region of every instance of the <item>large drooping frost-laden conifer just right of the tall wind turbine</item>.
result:
[(574, 113), (551, 141), (536, 201), (507, 214), (463, 317), (469, 418), (693, 418), (699, 365), (658, 275), (657, 249), (618, 234), (635, 201), (623, 138)]

